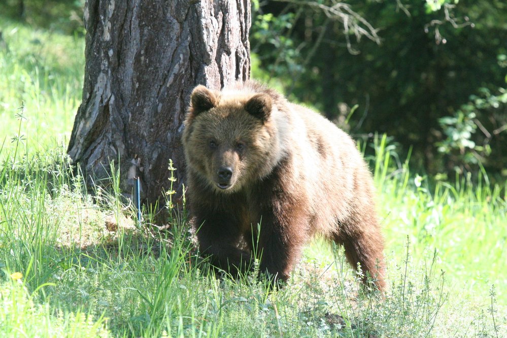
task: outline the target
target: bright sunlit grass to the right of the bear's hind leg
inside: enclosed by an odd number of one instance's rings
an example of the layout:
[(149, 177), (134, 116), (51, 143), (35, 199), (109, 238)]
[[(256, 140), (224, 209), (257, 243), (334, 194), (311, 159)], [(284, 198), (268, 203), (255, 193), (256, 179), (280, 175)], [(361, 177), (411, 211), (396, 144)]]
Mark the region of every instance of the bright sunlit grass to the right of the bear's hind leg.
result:
[(399, 257), (400, 234), (408, 235), (412, 255), (419, 259), (436, 253), (438, 268), (446, 272), (454, 288), (472, 296), (487, 294), (496, 285), (502, 290), (498, 297), (507, 301), (503, 291), (507, 290), (503, 273), (507, 269), (507, 202), (501, 187), (490, 187), (480, 176), (479, 183), (458, 177), (430, 188), (427, 178), (410, 173), (406, 163), (395, 173), (378, 171), (376, 176), (377, 182), (384, 182), (377, 184), (381, 187), (378, 209), (389, 250)]

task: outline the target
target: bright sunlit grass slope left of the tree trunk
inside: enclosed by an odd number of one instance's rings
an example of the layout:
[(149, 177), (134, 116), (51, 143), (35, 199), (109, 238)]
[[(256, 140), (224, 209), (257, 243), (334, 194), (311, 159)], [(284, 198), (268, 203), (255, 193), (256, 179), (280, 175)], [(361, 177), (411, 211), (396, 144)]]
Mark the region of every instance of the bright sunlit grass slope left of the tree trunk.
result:
[(84, 39), (34, 30), (0, 17), (0, 144), (8, 148), (24, 103), (29, 153), (65, 143), (81, 101)]

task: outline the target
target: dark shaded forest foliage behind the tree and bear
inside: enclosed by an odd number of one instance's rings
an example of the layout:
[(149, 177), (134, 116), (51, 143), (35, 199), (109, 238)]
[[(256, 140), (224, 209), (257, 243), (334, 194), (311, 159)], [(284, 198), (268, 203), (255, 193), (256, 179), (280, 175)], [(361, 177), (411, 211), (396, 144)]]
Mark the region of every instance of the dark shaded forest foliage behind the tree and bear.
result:
[[(0, 0), (2, 15), (71, 35), (85, 33), (83, 5)], [(503, 0), (253, 0), (252, 8), (252, 77), (356, 139), (386, 133), (400, 158), (433, 179), (487, 174), (504, 184)]]

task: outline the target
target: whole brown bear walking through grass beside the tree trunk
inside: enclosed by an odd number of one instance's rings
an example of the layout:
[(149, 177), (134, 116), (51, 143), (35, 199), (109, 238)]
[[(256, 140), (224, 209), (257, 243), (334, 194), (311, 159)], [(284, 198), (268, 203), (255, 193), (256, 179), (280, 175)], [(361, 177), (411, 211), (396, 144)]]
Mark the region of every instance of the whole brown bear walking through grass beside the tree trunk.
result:
[(363, 282), (369, 275), (384, 289), (373, 180), (348, 134), (254, 81), (221, 92), (197, 86), (190, 101), (189, 215), (212, 265), (236, 275), (256, 253), (261, 272), (286, 281), (320, 234), (360, 263)]

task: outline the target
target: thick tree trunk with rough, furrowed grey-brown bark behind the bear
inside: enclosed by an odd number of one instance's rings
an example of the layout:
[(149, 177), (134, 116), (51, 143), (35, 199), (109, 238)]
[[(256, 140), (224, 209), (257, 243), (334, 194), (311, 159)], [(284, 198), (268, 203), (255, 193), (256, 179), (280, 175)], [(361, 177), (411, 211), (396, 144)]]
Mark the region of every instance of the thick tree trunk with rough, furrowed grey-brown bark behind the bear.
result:
[[(184, 178), (180, 143), (192, 88), (220, 89), (250, 73), (249, 0), (88, 0), (84, 9), (83, 101), (67, 152), (86, 180), (110, 177), (155, 201), (172, 159)], [(106, 180), (104, 180), (106, 181)]]

